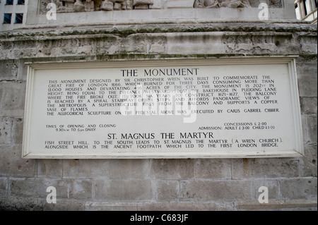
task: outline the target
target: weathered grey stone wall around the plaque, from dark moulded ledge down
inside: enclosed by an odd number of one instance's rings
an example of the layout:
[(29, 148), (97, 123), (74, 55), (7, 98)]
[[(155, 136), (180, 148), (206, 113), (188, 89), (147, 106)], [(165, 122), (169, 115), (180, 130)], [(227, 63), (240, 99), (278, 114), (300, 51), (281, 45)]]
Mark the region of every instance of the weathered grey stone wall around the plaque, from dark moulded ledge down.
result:
[[(0, 209), (317, 210), (317, 27), (179, 23), (0, 33)], [(305, 157), (22, 159), (27, 62), (298, 55)], [(57, 188), (57, 204), (46, 189)], [(258, 188), (269, 188), (259, 205)]]

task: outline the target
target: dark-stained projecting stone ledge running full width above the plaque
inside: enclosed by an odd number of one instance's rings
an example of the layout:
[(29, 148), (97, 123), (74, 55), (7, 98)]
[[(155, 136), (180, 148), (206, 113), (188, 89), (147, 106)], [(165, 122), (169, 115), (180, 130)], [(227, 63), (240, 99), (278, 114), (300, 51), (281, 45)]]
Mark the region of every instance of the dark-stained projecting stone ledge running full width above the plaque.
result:
[[(295, 22), (295, 21), (294, 21)], [(299, 32), (305, 37), (317, 35), (317, 26), (305, 23), (257, 23), (247, 21), (228, 21), (225, 23), (180, 23), (180, 24), (143, 24), (143, 25), (86, 25), (76, 28), (27, 28), (25, 30), (13, 30), (0, 32), (0, 41), (39, 40), (43, 37), (73, 38), (73, 36), (85, 35), (119, 35), (127, 37), (132, 34), (153, 34), (168, 32)]]

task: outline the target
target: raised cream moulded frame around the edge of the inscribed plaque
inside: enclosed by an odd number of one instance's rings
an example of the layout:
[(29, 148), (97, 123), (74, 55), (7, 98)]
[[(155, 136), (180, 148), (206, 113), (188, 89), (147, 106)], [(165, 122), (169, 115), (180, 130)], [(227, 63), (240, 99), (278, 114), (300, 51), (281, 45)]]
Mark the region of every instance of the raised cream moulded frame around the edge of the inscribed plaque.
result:
[[(25, 63), (28, 65), (28, 78), (25, 94), (25, 114), (23, 124), (23, 145), (22, 157), (25, 159), (204, 159), (204, 158), (271, 158), (271, 157), (302, 157), (304, 147), (302, 139), (302, 123), (300, 112), (300, 99), (298, 93), (298, 79), (296, 72), (296, 58), (298, 56), (244, 56), (244, 57), (225, 57), (225, 58), (185, 58), (185, 59), (137, 59), (133, 61), (114, 60), (114, 61), (63, 61), (63, 62), (38, 62)], [(143, 66), (189, 66), (189, 61), (193, 66), (222, 66), (228, 65), (260, 65), (260, 64), (282, 64), (288, 66), (290, 76), (290, 93), (292, 99), (292, 113), (295, 132), (295, 149), (293, 150), (271, 150), (251, 151), (241, 150), (232, 152), (213, 151), (213, 152), (107, 152), (90, 154), (39, 154), (30, 150), (30, 125), (33, 111), (33, 92), (35, 75), (38, 70), (48, 69), (71, 69), (71, 68), (131, 68)], [(191, 63), (190, 63), (191, 64)]]

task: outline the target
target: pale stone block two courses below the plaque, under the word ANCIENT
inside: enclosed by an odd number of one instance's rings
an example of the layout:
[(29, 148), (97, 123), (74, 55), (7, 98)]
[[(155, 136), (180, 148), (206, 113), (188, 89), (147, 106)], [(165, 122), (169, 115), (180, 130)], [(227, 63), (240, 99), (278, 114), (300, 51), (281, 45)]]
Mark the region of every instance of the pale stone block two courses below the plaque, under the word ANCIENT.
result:
[(96, 180), (95, 199), (107, 201), (136, 201), (153, 199), (149, 180)]

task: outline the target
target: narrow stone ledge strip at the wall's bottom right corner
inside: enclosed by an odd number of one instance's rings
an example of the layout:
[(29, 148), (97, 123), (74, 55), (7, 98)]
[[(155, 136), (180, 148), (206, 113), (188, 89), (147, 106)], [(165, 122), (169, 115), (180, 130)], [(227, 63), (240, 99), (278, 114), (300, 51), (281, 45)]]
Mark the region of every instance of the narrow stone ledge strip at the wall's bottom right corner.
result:
[(269, 200), (261, 204), (258, 201), (238, 201), (238, 209), (289, 209), (317, 207), (317, 199)]

